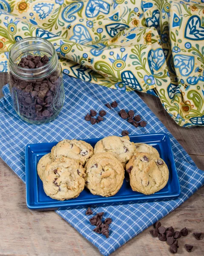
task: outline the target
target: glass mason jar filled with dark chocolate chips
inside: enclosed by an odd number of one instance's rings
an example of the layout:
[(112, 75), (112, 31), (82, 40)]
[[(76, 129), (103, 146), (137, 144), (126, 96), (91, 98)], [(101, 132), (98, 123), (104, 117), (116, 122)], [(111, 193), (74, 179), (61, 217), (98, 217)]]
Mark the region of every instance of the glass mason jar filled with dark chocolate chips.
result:
[(63, 76), (53, 45), (37, 37), (25, 38), (9, 52), (12, 104), (26, 122), (50, 122), (64, 102)]

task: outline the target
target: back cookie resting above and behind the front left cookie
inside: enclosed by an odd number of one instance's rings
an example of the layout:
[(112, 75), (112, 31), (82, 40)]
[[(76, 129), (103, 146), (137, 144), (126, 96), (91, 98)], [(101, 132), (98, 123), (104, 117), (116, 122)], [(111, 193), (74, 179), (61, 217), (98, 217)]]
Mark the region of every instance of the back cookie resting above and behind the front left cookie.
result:
[(69, 157), (84, 165), (92, 156), (93, 148), (83, 140), (62, 140), (52, 148), (51, 154), (54, 160), (59, 157)]

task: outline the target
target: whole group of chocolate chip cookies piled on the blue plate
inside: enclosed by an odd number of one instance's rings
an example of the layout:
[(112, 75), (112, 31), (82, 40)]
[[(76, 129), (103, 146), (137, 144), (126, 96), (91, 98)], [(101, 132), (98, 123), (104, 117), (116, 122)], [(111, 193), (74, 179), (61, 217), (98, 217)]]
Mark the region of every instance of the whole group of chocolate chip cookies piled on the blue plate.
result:
[(76, 198), (86, 186), (93, 195), (115, 195), (129, 173), (133, 191), (146, 195), (162, 189), (169, 171), (158, 151), (128, 136), (99, 140), (95, 148), (82, 140), (62, 140), (43, 156), (37, 172), (46, 195), (57, 200)]

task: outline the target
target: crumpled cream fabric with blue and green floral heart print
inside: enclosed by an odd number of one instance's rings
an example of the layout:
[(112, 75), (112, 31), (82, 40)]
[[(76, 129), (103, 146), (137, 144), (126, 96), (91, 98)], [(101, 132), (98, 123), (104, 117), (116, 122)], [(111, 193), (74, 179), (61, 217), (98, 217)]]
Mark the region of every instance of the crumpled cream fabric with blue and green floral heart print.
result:
[(158, 96), (178, 125), (204, 125), (204, 0), (0, 0), (0, 71), (26, 37), (63, 72)]

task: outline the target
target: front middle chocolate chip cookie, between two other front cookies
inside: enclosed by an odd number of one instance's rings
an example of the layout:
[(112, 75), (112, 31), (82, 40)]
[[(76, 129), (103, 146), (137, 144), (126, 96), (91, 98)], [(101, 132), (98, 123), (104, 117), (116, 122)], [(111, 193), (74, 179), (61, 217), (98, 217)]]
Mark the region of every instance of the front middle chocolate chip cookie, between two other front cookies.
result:
[(124, 180), (124, 168), (112, 154), (94, 154), (86, 163), (86, 187), (93, 195), (115, 195)]

